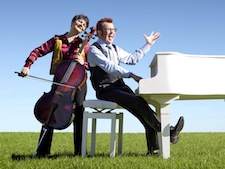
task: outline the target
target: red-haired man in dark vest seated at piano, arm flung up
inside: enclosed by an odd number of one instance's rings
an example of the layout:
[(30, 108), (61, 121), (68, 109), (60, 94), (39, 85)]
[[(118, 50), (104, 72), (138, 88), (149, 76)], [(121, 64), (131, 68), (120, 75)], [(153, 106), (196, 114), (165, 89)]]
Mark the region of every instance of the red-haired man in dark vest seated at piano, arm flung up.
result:
[[(119, 63), (136, 64), (150, 50), (160, 37), (160, 33), (152, 32), (150, 36), (144, 34), (146, 44), (134, 53), (128, 53), (112, 44), (116, 33), (112, 22), (111, 18), (98, 21), (96, 26), (98, 40), (88, 51), (87, 61), (93, 88), (98, 99), (116, 102), (140, 120), (146, 130), (147, 154), (158, 154), (157, 132), (161, 132), (161, 122), (148, 103), (135, 95), (123, 81), (123, 78), (133, 78), (139, 82), (141, 77), (124, 69)], [(184, 118), (180, 117), (177, 125), (171, 126), (170, 141), (173, 144), (177, 143), (183, 125)]]

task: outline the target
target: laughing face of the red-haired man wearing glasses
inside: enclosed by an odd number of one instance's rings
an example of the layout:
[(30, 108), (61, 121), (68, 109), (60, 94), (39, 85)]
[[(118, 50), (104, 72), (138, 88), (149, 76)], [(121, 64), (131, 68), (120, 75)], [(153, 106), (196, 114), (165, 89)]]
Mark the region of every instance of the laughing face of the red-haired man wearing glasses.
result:
[(116, 35), (116, 28), (114, 28), (113, 23), (109, 22), (104, 22), (102, 26), (102, 30), (98, 32), (98, 37), (107, 44), (112, 44)]

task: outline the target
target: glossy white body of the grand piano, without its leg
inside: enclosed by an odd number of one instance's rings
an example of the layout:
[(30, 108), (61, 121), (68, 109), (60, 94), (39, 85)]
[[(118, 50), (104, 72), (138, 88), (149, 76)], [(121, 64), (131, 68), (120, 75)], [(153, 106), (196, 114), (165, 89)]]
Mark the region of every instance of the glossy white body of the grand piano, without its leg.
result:
[(139, 82), (140, 95), (208, 95), (224, 98), (225, 56), (158, 52), (150, 68), (151, 78)]

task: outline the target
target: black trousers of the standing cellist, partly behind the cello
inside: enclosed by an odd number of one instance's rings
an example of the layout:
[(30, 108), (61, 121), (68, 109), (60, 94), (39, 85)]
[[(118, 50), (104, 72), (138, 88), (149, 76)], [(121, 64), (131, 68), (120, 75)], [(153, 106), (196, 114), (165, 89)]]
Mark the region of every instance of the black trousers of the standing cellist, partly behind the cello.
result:
[[(85, 100), (87, 93), (87, 85), (85, 84), (81, 90), (77, 90), (74, 102), (76, 107), (74, 109), (75, 118), (73, 121), (74, 126), (74, 153), (75, 155), (81, 154), (81, 142), (82, 142), (82, 124), (83, 124), (83, 101)], [(63, 112), (62, 112), (63, 113)], [(48, 126), (42, 126), (40, 137), (43, 136), (44, 129), (47, 129), (46, 134), (37, 150), (38, 155), (50, 154), (52, 136), (53, 136), (53, 128), (49, 128)]]

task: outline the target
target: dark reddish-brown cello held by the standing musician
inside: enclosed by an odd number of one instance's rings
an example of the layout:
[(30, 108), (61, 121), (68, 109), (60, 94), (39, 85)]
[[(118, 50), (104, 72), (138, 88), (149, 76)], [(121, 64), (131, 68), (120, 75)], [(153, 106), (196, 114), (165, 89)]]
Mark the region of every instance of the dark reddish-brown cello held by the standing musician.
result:
[[(95, 28), (85, 36), (78, 53), (81, 53), (85, 44), (91, 39)], [(75, 60), (61, 62), (55, 71), (54, 82), (50, 92), (45, 93), (38, 99), (34, 107), (36, 119), (53, 129), (65, 129), (74, 119), (73, 102), (77, 90), (86, 83), (87, 74), (84, 66), (76, 63)]]

